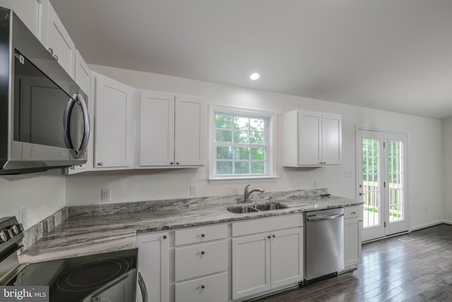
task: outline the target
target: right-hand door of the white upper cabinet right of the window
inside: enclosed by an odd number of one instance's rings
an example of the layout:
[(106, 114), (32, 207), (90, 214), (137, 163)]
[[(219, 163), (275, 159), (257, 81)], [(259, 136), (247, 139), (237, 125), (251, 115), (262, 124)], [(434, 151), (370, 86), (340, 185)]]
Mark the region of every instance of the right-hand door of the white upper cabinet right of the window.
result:
[(342, 150), (342, 118), (322, 115), (322, 161), (326, 165), (340, 164)]

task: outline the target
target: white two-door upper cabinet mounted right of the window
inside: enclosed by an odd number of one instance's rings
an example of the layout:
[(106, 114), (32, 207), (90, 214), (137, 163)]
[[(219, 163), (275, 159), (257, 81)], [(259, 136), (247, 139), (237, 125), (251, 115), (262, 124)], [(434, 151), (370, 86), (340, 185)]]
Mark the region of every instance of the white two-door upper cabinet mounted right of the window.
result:
[(293, 110), (283, 117), (283, 165), (338, 165), (342, 156), (342, 117)]

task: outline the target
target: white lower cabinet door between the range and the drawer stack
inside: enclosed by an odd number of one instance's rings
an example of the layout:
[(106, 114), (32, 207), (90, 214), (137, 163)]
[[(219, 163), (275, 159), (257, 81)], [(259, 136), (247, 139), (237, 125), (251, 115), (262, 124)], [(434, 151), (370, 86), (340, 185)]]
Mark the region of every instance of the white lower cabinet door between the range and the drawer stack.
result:
[[(136, 236), (138, 271), (148, 289), (148, 301), (168, 301), (169, 294), (169, 243), (168, 233)], [(137, 289), (137, 301), (143, 301)]]

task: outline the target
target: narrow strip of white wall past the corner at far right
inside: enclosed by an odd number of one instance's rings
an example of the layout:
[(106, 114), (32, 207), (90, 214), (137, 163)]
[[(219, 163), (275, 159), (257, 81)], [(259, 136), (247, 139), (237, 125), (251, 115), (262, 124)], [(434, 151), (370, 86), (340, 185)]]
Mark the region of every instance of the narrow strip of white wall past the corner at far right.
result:
[(452, 117), (443, 120), (444, 218), (452, 223)]

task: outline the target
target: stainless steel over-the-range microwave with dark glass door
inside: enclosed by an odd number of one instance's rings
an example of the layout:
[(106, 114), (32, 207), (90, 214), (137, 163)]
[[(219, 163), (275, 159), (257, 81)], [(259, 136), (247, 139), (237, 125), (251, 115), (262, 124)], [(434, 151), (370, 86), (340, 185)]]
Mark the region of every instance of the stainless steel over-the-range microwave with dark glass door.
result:
[(0, 175), (85, 163), (85, 100), (16, 14), (0, 8)]

